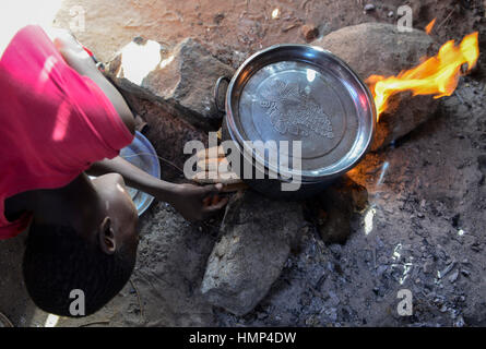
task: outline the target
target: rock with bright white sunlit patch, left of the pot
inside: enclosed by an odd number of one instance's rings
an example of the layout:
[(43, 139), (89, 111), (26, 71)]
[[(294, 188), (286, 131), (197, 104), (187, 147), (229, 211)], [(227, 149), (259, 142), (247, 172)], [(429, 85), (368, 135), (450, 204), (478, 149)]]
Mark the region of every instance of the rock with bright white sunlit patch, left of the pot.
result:
[(211, 130), (220, 127), (222, 118), (213, 103), (214, 85), (220, 76), (232, 76), (234, 70), (191, 38), (169, 48), (139, 37), (109, 62), (107, 72), (121, 89), (157, 101), (182, 120)]

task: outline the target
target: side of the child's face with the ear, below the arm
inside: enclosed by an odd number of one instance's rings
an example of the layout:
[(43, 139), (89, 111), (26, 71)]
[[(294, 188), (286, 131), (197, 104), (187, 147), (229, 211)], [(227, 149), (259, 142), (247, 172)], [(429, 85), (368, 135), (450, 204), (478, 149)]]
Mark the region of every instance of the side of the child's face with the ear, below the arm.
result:
[(94, 179), (93, 185), (111, 220), (117, 249), (123, 246), (123, 250), (137, 252), (139, 214), (126, 191), (123, 178), (118, 173), (108, 173)]

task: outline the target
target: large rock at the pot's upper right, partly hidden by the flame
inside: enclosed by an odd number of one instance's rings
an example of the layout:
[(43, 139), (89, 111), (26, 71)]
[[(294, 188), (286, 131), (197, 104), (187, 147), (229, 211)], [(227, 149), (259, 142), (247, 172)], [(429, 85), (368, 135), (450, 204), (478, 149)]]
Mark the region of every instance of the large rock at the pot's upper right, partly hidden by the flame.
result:
[[(424, 56), (434, 56), (438, 47), (425, 32), (413, 29), (400, 33), (396, 25), (364, 23), (344, 27), (313, 45), (330, 50), (346, 61), (365, 81), (372, 74), (396, 75), (420, 62)], [(390, 111), (378, 123), (372, 149), (377, 149), (407, 134), (430, 118), (437, 109), (431, 96), (412, 98), (411, 93), (392, 97)]]

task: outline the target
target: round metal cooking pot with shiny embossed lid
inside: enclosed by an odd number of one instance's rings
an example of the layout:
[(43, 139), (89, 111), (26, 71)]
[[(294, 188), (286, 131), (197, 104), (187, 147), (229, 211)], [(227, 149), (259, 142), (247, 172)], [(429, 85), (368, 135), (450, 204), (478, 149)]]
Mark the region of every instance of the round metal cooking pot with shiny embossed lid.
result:
[[(220, 77), (216, 107), (223, 81), (228, 82), (223, 140), (233, 141), (252, 177), (244, 176), (242, 166), (232, 169), (268, 196), (297, 200), (318, 193), (355, 167), (371, 144), (377, 115), (368, 87), (322, 48), (275, 45), (254, 53), (233, 79)], [(254, 141), (274, 146), (248, 146)], [(283, 190), (295, 179), (298, 190)]]

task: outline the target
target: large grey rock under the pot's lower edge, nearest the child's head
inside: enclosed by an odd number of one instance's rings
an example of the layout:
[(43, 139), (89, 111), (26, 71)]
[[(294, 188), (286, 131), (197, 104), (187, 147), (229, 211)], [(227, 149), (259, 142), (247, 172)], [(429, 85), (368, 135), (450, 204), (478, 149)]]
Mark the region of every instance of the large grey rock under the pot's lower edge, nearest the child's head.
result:
[(252, 191), (233, 197), (202, 281), (205, 299), (236, 315), (250, 312), (280, 276), (303, 219), (298, 203)]

